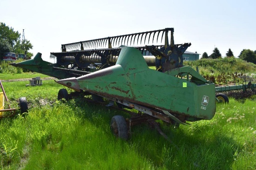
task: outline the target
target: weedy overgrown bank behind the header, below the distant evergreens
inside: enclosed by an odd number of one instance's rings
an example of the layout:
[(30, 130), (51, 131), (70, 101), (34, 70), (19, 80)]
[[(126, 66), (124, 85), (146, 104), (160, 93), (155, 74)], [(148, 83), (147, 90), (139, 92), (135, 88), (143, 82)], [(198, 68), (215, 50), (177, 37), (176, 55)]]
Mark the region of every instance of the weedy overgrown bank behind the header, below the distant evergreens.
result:
[[(256, 65), (239, 58), (200, 59), (184, 62), (184, 65), (189, 65), (194, 69), (198, 68), (204, 78), (215, 84), (243, 84), (244, 79), (239, 76), (251, 76), (256, 80)], [(256, 81), (252, 83), (256, 83)]]

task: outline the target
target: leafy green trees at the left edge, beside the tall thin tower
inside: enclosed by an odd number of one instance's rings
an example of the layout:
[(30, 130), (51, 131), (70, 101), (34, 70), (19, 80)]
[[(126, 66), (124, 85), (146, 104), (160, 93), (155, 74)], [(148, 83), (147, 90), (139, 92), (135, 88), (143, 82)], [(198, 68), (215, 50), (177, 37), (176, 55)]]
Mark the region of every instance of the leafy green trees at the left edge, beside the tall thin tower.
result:
[(32, 57), (33, 53), (28, 52), (33, 49), (33, 45), (29, 40), (20, 40), (19, 31), (14, 31), (12, 27), (5, 23), (0, 23), (0, 57), (5, 52), (13, 52), (16, 54), (26, 54), (27, 58)]

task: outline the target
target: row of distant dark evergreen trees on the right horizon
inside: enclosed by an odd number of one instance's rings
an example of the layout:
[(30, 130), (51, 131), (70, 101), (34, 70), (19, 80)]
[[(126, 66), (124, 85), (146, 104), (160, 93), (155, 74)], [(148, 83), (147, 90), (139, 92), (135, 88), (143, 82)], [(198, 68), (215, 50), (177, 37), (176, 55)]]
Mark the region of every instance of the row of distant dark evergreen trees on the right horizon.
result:
[[(233, 54), (233, 52), (230, 48), (226, 53), (226, 57), (234, 57), (234, 54)], [(247, 62), (256, 64), (256, 50), (252, 51), (252, 50), (249, 50), (249, 49), (243, 49), (240, 52), (240, 55), (238, 57), (242, 60), (247, 61)], [(217, 47), (215, 47), (214, 50), (213, 50), (213, 53), (210, 56), (208, 56), (207, 52), (204, 52), (202, 54), (201, 59), (203, 59), (203, 58), (217, 59), (217, 58), (222, 58), (222, 55), (221, 55), (219, 49)]]

